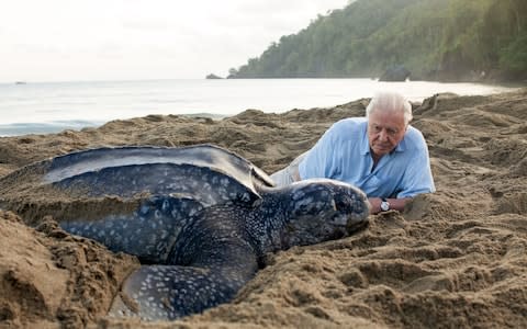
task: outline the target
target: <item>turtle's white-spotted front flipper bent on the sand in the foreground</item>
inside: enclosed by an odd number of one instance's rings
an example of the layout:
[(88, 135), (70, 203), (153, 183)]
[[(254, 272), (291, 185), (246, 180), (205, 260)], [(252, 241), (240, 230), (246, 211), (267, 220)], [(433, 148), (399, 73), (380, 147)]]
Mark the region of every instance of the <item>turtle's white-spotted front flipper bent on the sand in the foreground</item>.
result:
[[(218, 229), (222, 223), (201, 217), (206, 211), (192, 222), (193, 234), (180, 235), (188, 243), (176, 243), (172, 265), (145, 265), (125, 280), (111, 316), (173, 320), (234, 298), (258, 270), (257, 254), (229, 223)], [(201, 237), (208, 229), (215, 234)]]

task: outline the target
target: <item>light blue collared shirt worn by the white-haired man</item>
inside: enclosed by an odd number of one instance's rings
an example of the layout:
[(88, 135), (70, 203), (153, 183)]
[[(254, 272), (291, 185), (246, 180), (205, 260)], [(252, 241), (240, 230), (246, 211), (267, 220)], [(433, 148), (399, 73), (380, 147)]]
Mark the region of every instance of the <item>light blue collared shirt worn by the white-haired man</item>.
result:
[(423, 134), (408, 126), (403, 140), (384, 155), (372, 171), (373, 159), (366, 117), (335, 123), (299, 164), (301, 179), (330, 178), (348, 182), (369, 197), (413, 197), (435, 192), (428, 148)]

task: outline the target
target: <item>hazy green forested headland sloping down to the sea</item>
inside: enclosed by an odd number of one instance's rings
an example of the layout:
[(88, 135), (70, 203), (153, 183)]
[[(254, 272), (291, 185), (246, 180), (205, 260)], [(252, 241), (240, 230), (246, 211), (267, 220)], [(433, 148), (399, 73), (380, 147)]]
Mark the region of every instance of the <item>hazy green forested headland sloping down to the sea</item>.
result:
[(527, 0), (357, 0), (282, 36), (229, 78), (527, 78)]

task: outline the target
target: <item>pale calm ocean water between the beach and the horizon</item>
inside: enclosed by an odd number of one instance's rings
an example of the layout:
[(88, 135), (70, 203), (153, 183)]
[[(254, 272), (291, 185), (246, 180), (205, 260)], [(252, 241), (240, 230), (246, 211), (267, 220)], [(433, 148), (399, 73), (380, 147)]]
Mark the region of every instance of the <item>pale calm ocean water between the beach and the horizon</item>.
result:
[(371, 79), (188, 79), (0, 83), (0, 136), (97, 127), (112, 120), (149, 114), (235, 115), (248, 109), (281, 113), (329, 107), (378, 90), (399, 91), (411, 101), (438, 92), (491, 94), (514, 88)]

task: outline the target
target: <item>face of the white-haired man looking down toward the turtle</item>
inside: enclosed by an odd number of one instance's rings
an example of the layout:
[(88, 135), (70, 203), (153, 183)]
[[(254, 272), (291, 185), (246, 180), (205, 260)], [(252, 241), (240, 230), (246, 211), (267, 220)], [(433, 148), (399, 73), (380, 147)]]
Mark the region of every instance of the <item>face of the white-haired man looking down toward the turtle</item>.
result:
[(402, 111), (370, 112), (368, 118), (368, 139), (374, 156), (382, 157), (391, 152), (403, 140), (406, 133)]

